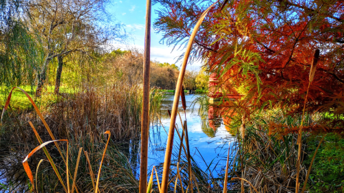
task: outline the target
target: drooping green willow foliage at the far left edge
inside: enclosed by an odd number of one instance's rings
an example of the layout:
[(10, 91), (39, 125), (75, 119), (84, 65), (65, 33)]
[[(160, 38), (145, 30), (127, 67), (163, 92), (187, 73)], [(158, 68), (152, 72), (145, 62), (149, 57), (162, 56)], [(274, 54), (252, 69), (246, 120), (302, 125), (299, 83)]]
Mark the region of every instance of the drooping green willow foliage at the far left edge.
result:
[(0, 86), (33, 86), (43, 59), (39, 36), (28, 32), (20, 10), (19, 1), (0, 1)]

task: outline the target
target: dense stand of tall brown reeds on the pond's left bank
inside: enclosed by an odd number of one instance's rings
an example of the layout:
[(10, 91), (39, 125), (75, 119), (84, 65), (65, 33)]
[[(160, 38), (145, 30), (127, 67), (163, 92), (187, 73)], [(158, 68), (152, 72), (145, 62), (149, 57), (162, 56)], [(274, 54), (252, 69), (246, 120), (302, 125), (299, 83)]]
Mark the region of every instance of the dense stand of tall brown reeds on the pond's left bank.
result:
[[(69, 139), (81, 135), (91, 135), (97, 140), (101, 133), (110, 130), (115, 140), (140, 136), (140, 113), (142, 87), (116, 83), (109, 88), (84, 87), (76, 93), (65, 95), (43, 95), (45, 102), (41, 112), (54, 136)], [(151, 117), (159, 111), (162, 93), (151, 89)], [(43, 124), (32, 111), (10, 111), (4, 115), (3, 130), (21, 128), (20, 139), (32, 135), (29, 121), (40, 132), (45, 133)], [(18, 126), (19, 124), (19, 126)], [(28, 132), (29, 131), (29, 132)], [(21, 132), (19, 132), (21, 133)], [(44, 137), (44, 135), (43, 135)], [(43, 139), (43, 141), (45, 141)]]

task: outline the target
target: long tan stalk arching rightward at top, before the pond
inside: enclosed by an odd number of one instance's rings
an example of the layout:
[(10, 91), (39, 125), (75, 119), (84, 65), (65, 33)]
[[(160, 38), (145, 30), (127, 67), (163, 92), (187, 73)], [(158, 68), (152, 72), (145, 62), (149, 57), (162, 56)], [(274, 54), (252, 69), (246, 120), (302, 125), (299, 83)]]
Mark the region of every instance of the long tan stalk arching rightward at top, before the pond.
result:
[[(202, 15), (200, 16), (200, 19), (198, 19), (195, 27), (193, 28), (193, 32), (190, 36), (189, 43), (186, 47), (186, 52), (184, 55), (184, 60), (182, 63), (182, 67), (180, 68), (180, 73), (178, 76), (178, 82), (175, 88), (175, 95), (173, 98), (173, 106), (172, 106), (172, 112), (171, 112), (171, 122), (169, 126), (169, 137), (167, 139), (167, 144), (166, 144), (166, 152), (165, 152), (165, 158), (164, 158), (164, 170), (162, 172), (162, 185), (161, 185), (161, 190), (162, 193), (167, 192), (167, 186), (169, 183), (169, 170), (171, 166), (171, 156), (172, 156), (172, 148), (173, 148), (173, 137), (174, 137), (174, 126), (175, 126), (175, 118), (177, 116), (177, 111), (178, 111), (178, 104), (179, 104), (179, 98), (180, 98), (180, 91), (182, 90), (182, 84), (185, 76), (185, 71), (186, 71), (186, 64), (189, 60), (191, 48), (193, 45), (193, 41), (195, 39), (195, 36), (197, 34), (198, 29), (200, 28), (200, 25), (202, 21), (204, 20), (204, 17), (206, 14), (211, 10), (211, 8), (217, 3), (213, 3), (208, 9), (206, 9)], [(147, 25), (146, 25), (147, 26)]]

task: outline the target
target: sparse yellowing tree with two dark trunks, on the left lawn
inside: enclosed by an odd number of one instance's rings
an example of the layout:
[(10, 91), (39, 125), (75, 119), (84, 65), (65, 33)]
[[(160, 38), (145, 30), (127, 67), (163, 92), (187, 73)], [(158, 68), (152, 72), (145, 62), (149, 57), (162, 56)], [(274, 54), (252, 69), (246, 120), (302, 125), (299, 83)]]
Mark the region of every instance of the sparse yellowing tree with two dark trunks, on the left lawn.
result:
[(58, 92), (63, 57), (72, 53), (99, 52), (109, 41), (124, 37), (120, 33), (120, 24), (108, 24), (111, 19), (105, 10), (107, 3), (108, 0), (25, 1), (25, 19), (31, 32), (41, 35), (45, 47), (45, 60), (37, 74), (36, 96), (41, 95), (47, 68), (53, 58), (58, 58), (55, 88)]

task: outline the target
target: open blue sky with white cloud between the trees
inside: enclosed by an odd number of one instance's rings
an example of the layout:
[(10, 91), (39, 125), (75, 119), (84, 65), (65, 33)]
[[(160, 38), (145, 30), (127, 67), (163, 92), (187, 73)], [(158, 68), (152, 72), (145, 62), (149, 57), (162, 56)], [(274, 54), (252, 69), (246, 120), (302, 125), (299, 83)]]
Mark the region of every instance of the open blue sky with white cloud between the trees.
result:
[[(160, 5), (152, 6), (152, 23), (158, 18), (154, 10), (158, 10)], [(107, 10), (116, 18), (117, 22), (125, 25), (125, 30), (131, 34), (126, 45), (116, 45), (121, 49), (130, 49), (136, 47), (137, 49), (144, 49), (144, 25), (146, 18), (146, 1), (144, 0), (112, 0)], [(160, 63), (175, 63), (178, 56), (180, 56), (184, 49), (173, 50), (172, 46), (168, 47), (160, 42), (162, 34), (156, 34), (155, 30), (151, 28), (151, 60), (158, 60)], [(180, 66), (181, 61), (175, 63)], [(200, 63), (193, 63), (187, 69), (200, 69)]]

